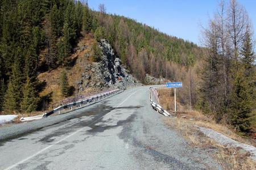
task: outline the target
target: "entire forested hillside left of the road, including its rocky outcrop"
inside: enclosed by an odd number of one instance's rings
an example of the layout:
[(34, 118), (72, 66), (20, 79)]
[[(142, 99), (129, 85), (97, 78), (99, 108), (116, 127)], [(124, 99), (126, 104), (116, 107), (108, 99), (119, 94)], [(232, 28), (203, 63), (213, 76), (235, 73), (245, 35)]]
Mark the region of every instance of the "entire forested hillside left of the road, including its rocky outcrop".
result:
[[(24, 0), (17, 5), (1, 2), (3, 113), (45, 110), (65, 97), (110, 88), (116, 82), (128, 86), (137, 82), (129, 73), (142, 83), (151, 83), (145, 81), (146, 74), (180, 79), (180, 69), (200, 59), (201, 49), (192, 42), (124, 16), (92, 11), (80, 1)], [(19, 29), (9, 29), (14, 26)], [(110, 43), (113, 52), (104, 52), (101, 39)], [(120, 77), (112, 71), (115, 58), (121, 59)], [(63, 80), (62, 74), (67, 78)], [(64, 82), (68, 87), (63, 87)], [(72, 92), (63, 94), (63, 88)]]

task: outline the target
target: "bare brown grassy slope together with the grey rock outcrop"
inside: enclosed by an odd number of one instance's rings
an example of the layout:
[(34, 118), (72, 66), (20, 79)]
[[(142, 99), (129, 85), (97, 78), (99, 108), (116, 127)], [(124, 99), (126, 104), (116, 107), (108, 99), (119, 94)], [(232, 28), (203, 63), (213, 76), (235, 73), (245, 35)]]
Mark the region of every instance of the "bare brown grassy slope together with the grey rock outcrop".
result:
[[(132, 75), (127, 73), (122, 66), (118, 67), (118, 59), (107, 41), (102, 39), (98, 45), (102, 49), (102, 60), (93, 62), (92, 46), (96, 43), (92, 34), (86, 34), (79, 38), (75, 52), (71, 55), (72, 66), (57, 67), (54, 70), (46, 71), (38, 75), (40, 82), (45, 87), (39, 96), (46, 99), (49, 107), (58, 104), (64, 99), (61, 94), (61, 73), (67, 73), (69, 86), (73, 88), (72, 96), (89, 94), (106, 90), (108, 88), (123, 88), (139, 85)], [(115, 70), (120, 68), (120, 70)], [(69, 96), (69, 97), (72, 97)], [(42, 107), (45, 107), (44, 105)], [(47, 109), (47, 107), (43, 108)]]

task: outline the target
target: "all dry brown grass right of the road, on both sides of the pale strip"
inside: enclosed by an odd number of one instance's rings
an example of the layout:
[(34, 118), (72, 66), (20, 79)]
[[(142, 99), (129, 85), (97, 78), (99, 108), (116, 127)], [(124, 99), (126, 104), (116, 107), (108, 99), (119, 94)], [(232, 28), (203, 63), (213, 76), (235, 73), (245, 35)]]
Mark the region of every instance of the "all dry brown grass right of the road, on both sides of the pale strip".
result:
[[(169, 112), (174, 111), (174, 97), (170, 89), (159, 89), (160, 105)], [(177, 104), (177, 114), (175, 118), (163, 118), (163, 121), (172, 129), (176, 129), (188, 140), (191, 147), (200, 147), (204, 149), (214, 149), (216, 153), (213, 157), (221, 164), (223, 169), (255, 169), (255, 162), (253, 162), (249, 154), (240, 154), (240, 148), (227, 148), (219, 145), (216, 141), (206, 137), (195, 125), (216, 130), (229, 138), (236, 141), (255, 145), (254, 141), (243, 139), (235, 133), (232, 128), (225, 124), (216, 124), (213, 117), (205, 116), (201, 112), (189, 111), (188, 107), (183, 107)], [(183, 118), (185, 116), (185, 118)]]

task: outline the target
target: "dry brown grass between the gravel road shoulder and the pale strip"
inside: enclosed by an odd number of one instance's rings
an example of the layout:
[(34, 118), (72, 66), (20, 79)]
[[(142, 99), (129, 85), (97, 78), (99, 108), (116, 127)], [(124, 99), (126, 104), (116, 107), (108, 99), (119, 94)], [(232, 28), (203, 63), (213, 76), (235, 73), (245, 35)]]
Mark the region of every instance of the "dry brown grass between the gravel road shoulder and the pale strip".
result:
[(175, 129), (187, 139), (191, 147), (200, 147), (205, 150), (214, 150), (212, 156), (223, 169), (255, 169), (256, 163), (250, 159), (250, 155), (240, 154), (240, 148), (228, 148), (206, 137), (199, 131), (192, 121), (184, 118), (163, 118), (163, 121), (171, 129)]

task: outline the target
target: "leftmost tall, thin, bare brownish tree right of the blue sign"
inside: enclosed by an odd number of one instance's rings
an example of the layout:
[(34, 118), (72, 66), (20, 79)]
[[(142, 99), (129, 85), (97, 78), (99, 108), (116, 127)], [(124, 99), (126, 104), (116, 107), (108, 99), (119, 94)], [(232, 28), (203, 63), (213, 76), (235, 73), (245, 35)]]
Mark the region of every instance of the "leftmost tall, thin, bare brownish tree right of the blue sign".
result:
[(205, 37), (208, 54), (205, 58), (206, 63), (202, 74), (200, 109), (206, 114), (213, 113), (216, 122), (220, 122), (224, 113), (224, 99), (219, 92), (222, 65), (221, 56), (218, 53), (218, 27), (214, 21), (210, 22), (209, 29), (205, 31)]

